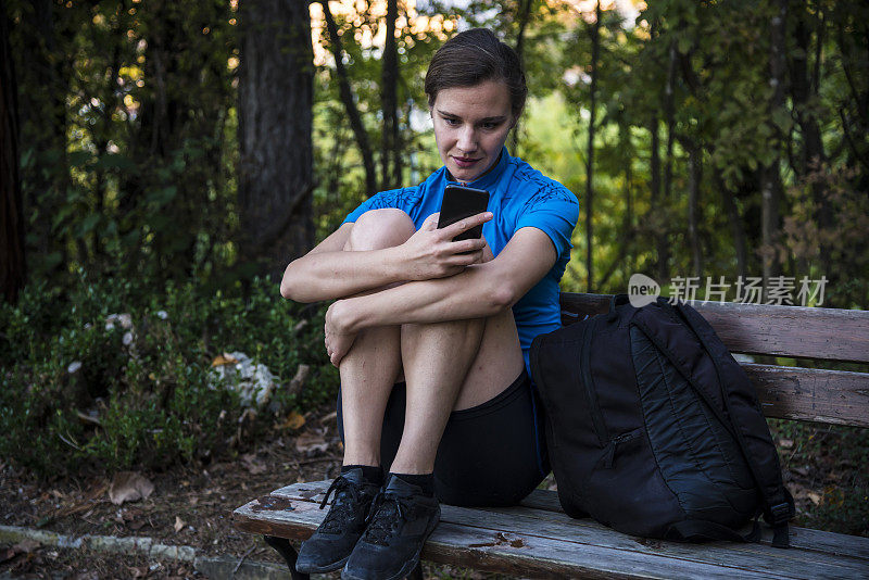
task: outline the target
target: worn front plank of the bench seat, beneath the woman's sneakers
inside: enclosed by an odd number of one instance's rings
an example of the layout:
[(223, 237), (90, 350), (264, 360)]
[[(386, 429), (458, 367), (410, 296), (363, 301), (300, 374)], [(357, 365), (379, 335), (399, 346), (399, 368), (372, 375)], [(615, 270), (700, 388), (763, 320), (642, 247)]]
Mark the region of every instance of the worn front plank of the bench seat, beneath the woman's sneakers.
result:
[[(252, 502), (236, 510), (236, 524), (245, 531), (303, 539), (325, 515), (316, 503), (325, 490), (323, 484), (310, 483), (282, 488), (264, 501), (272, 503), (269, 508)], [(798, 550), (780, 551), (757, 544), (747, 545), (755, 550), (752, 552), (734, 551), (732, 544), (694, 546), (646, 541), (597, 529), (597, 525), (588, 527), (583, 520), (572, 520), (564, 514), (554, 519), (552, 516), (558, 514), (529, 515), (534, 512), (531, 509), (507, 508), (519, 509), (518, 514), (454, 506), (442, 509), (442, 524), (424, 552), (426, 559), (522, 576), (711, 578), (760, 573), (768, 578), (801, 578), (808, 572), (817, 578), (856, 578), (869, 566), (849, 558), (807, 556)], [(517, 533), (517, 529), (522, 531)]]

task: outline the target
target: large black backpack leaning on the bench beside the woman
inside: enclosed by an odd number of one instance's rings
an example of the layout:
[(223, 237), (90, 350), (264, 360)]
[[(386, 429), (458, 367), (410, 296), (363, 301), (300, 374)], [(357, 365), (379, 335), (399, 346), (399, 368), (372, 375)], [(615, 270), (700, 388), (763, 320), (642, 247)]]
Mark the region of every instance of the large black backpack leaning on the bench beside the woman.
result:
[[(531, 371), (562, 507), (634, 535), (786, 547), (794, 503), (757, 394), (691, 306), (609, 313), (538, 336)], [(754, 518), (747, 535), (738, 529)]]

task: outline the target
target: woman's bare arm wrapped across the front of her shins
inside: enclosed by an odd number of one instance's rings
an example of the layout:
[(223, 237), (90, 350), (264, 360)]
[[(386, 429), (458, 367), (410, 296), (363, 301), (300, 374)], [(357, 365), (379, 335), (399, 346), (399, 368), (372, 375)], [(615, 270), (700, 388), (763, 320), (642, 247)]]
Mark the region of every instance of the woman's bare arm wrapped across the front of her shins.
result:
[(526, 227), (513, 236), (498, 257), (455, 276), (339, 300), (326, 314), (326, 341), (332, 363), (338, 364), (356, 332), (364, 328), (493, 316), (524, 297), (556, 259), (549, 236)]

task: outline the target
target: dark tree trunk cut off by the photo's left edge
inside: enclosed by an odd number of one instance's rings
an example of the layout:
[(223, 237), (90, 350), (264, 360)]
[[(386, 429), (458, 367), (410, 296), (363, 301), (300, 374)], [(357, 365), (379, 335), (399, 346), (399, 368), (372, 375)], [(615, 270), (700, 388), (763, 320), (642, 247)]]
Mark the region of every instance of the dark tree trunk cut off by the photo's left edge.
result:
[(24, 212), (18, 177), (17, 84), (9, 42), (7, 7), (0, 0), (0, 292), (16, 302), (27, 269), (24, 256)]

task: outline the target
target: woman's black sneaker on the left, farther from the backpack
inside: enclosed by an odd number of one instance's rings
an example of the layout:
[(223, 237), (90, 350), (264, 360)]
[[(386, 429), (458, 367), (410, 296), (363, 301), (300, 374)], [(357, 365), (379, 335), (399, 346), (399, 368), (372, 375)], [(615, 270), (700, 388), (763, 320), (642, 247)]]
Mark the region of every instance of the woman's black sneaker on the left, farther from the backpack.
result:
[(360, 468), (335, 478), (319, 507), (323, 509), (335, 492), (332, 505), (319, 528), (302, 542), (295, 569), (311, 573), (330, 572), (343, 567), (365, 530), (365, 518), (379, 491), (379, 486), (363, 480)]

